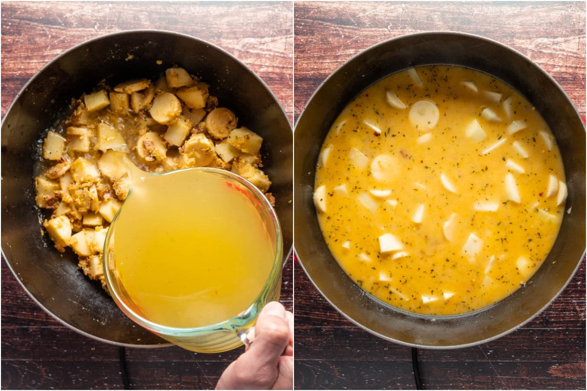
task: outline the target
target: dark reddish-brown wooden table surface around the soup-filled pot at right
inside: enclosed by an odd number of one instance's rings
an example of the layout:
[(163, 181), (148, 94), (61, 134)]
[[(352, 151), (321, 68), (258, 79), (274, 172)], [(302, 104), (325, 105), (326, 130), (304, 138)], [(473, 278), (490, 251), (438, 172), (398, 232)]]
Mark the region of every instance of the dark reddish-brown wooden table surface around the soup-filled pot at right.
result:
[[(297, 117), (360, 50), (405, 33), (453, 30), (511, 46), (550, 73), (585, 115), (585, 3), (296, 2)], [(414, 389), (411, 349), (351, 324), (295, 266), (296, 389)], [(427, 389), (585, 389), (585, 261), (548, 310), (497, 341), (419, 349)]]

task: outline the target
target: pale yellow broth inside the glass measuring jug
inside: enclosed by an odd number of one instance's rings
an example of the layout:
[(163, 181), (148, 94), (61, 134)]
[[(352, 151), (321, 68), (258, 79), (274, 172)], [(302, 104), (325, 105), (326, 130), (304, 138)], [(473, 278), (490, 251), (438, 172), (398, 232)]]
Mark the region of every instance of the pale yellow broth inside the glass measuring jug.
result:
[(181, 328), (247, 310), (275, 258), (275, 243), (248, 195), (194, 170), (132, 176), (114, 231), (127, 304), (152, 322)]

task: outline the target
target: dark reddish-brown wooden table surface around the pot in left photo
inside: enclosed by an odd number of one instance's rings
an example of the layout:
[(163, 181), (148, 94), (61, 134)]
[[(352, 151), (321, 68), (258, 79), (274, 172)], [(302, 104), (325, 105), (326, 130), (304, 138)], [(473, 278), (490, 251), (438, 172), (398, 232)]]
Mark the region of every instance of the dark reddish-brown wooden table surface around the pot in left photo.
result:
[[(186, 33), (247, 64), (293, 112), (291, 2), (2, 2), (2, 115), (42, 66), (87, 39), (129, 29)], [(292, 310), (292, 262), (281, 301)], [(2, 389), (122, 389), (119, 348), (64, 327), (22, 290), (2, 261)], [(208, 389), (244, 348), (205, 355), (126, 349), (133, 389)]]

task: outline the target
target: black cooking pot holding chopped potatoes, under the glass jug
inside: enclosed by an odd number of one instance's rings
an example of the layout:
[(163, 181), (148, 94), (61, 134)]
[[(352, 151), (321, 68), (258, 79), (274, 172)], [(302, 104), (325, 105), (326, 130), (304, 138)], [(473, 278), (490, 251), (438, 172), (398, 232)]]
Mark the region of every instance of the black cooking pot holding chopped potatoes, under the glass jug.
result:
[[(167, 344), (135, 325), (96, 281), (77, 268), (71, 251), (60, 256), (41, 236), (35, 206), (35, 142), (72, 97), (104, 80), (155, 79), (171, 66), (210, 83), (210, 94), (231, 108), (239, 124), (263, 137), (264, 171), (273, 184), (284, 236), (292, 248), (292, 130), (278, 100), (245, 64), (218, 47), (179, 33), (139, 30), (82, 43), (47, 64), (9, 108), (2, 123), (2, 253), (16, 279), (43, 310), (76, 331), (126, 346)], [(244, 227), (234, 227), (234, 232)]]

